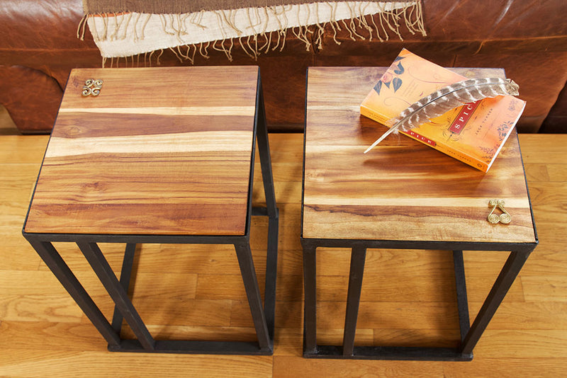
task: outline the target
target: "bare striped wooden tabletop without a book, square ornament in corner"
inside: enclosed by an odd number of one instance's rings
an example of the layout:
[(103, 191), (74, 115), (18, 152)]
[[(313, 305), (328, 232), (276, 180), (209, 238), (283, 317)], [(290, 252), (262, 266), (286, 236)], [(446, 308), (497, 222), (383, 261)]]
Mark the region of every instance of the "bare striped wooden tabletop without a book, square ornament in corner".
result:
[[(99, 96), (82, 96), (102, 79)], [(75, 69), (24, 231), (245, 234), (257, 67)]]

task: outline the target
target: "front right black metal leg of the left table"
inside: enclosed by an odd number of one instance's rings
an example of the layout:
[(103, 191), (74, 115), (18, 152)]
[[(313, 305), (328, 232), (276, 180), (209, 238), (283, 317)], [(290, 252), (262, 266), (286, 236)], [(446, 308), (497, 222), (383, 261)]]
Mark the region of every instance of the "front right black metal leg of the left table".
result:
[(254, 328), (256, 328), (256, 335), (261, 350), (272, 350), (268, 327), (266, 324), (266, 316), (264, 314), (264, 307), (262, 306), (262, 296), (258, 287), (258, 280), (256, 277), (256, 270), (254, 270), (254, 261), (252, 260), (252, 251), (250, 245), (245, 242), (235, 244), (236, 256), (238, 264), (240, 265), (240, 273), (242, 274), (242, 281), (248, 297), (248, 304), (250, 312), (252, 313), (252, 320), (254, 321)]

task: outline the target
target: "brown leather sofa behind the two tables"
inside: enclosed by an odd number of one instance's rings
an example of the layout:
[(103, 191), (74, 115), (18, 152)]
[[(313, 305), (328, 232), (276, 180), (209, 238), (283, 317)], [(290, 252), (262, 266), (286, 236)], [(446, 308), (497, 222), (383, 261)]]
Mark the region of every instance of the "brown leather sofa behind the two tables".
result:
[[(305, 50), (288, 33), (282, 52), (254, 62), (235, 48), (234, 59), (211, 52), (198, 65), (258, 64), (271, 131), (303, 130), (305, 71), (309, 66), (388, 66), (402, 47), (445, 67), (503, 67), (527, 101), (520, 132), (567, 132), (567, 1), (423, 0), (427, 37), (402, 28), (380, 42), (349, 38), (331, 28), (321, 50)], [(89, 32), (77, 38), (81, 0), (0, 1), (0, 103), (23, 133), (50, 132), (69, 71), (101, 67)], [(131, 61), (130, 61), (131, 64)], [(162, 65), (180, 65), (168, 51)], [(124, 67), (121, 62), (120, 67)], [(369, 84), (369, 87), (371, 84)]]

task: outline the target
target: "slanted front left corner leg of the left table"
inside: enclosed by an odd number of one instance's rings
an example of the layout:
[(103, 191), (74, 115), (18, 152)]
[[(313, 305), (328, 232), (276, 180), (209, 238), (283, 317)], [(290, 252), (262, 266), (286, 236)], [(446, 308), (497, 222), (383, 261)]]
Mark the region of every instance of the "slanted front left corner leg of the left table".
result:
[(111, 324), (108, 323), (106, 317), (104, 317), (99, 307), (96, 306), (89, 294), (84, 290), (84, 287), (61, 258), (55, 247), (49, 242), (37, 241), (30, 237), (28, 237), (28, 241), (108, 344), (120, 345), (120, 336), (114, 331)]

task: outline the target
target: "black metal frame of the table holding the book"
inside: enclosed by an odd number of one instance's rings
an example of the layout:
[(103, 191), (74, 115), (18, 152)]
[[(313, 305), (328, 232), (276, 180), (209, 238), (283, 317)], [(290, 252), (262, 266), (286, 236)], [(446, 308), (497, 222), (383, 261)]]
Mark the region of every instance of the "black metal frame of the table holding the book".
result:
[[(533, 212), (532, 212), (533, 219)], [(534, 227), (535, 231), (535, 227)], [(514, 243), (466, 243), (439, 241), (379, 241), (343, 239), (304, 239), (303, 282), (305, 308), (303, 321), (303, 357), (367, 359), (367, 360), (439, 360), (470, 361), (473, 348), (481, 338), (486, 326), (512, 286), (529, 254), (537, 246)], [(342, 345), (317, 344), (317, 299), (316, 299), (316, 251), (318, 247), (352, 248), (347, 293), (347, 309), (344, 319)], [(354, 346), (357, 330), (357, 315), (360, 303), (366, 248), (424, 249), (453, 251), (456, 301), (459, 309), (461, 343), (458, 348)], [(472, 325), (468, 318), (465, 270), (462, 251), (512, 251), (495, 283), (488, 293), (483, 306)]]

